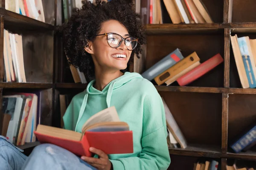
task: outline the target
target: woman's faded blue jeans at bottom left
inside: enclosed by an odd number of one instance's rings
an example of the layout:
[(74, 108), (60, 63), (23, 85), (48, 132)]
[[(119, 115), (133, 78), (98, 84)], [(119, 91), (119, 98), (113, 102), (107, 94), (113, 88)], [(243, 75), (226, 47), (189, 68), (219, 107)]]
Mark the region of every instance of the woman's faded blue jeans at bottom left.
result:
[(68, 150), (54, 144), (40, 144), (29, 156), (0, 136), (1, 170), (96, 170)]

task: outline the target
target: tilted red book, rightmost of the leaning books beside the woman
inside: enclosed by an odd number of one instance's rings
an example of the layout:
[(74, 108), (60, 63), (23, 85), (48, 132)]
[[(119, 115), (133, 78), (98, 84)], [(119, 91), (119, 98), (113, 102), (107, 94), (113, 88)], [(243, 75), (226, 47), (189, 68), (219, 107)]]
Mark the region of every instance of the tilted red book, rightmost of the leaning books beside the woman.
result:
[(198, 65), (198, 67), (194, 68), (193, 70), (189, 71), (188, 73), (184, 74), (183, 76), (179, 77), (177, 79), (177, 82), (180, 86), (187, 85), (199, 77), (203, 76), (204, 74), (211, 71), (213, 68), (215, 68), (217, 65), (219, 65), (221, 62), (223, 62), (223, 58), (218, 53), (212, 58), (208, 59), (207, 61), (203, 62), (201, 65)]

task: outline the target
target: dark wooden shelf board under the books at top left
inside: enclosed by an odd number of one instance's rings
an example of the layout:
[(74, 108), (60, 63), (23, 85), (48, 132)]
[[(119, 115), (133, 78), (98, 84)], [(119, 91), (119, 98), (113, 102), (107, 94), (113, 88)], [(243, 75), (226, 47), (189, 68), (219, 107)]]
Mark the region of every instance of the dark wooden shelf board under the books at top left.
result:
[[(38, 30), (53, 30), (54, 26), (48, 23), (26, 17), (16, 12), (8, 11), (4, 8), (0, 8), (0, 14), (4, 15), (5, 28), (12, 32), (19, 32), (19, 29), (26, 31), (38, 31)], [(47, 14), (45, 12), (44, 14)]]

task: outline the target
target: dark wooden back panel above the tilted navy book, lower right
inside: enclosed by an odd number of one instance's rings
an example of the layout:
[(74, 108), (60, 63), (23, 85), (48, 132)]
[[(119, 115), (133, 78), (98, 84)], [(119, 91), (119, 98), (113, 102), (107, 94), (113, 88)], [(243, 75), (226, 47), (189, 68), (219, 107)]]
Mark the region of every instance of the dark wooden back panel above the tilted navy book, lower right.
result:
[[(256, 121), (256, 95), (229, 94), (228, 148), (237, 135)], [(253, 148), (255, 150), (256, 147)], [(232, 152), (232, 150), (231, 150)]]

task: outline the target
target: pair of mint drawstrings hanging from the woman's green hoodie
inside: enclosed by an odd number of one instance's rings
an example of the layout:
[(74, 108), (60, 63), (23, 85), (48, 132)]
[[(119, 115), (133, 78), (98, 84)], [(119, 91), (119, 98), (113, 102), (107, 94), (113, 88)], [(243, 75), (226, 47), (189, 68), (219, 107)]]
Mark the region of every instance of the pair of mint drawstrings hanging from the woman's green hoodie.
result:
[[(107, 93), (107, 97), (106, 97), (106, 102), (107, 102), (108, 108), (110, 107), (111, 96), (112, 96), (112, 92), (113, 92), (113, 88), (114, 88), (115, 83), (116, 83), (116, 81), (113, 81), (111, 83), (111, 85), (109, 86), (109, 88), (108, 88), (108, 93)], [(85, 111), (85, 107), (86, 107), (86, 104), (87, 104), (87, 99), (88, 99), (88, 94), (86, 93), (84, 95), (84, 99), (83, 99), (83, 102), (82, 102), (82, 105), (81, 105), (81, 108), (80, 108), (80, 111), (79, 111), (78, 120), (76, 122), (76, 128), (77, 128), (77, 125), (78, 125), (81, 117), (83, 116), (84, 111)], [(75, 128), (75, 131), (76, 131), (76, 128)]]

